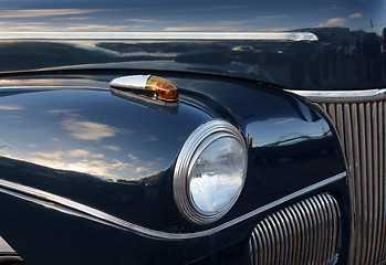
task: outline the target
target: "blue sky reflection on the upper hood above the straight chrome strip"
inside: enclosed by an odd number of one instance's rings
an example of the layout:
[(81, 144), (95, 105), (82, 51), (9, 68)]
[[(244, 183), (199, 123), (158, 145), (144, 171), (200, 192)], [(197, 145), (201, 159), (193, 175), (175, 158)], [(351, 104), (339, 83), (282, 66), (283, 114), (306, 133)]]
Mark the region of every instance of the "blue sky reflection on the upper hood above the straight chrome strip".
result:
[(344, 26), (379, 32), (386, 25), (385, 11), (384, 0), (6, 0), (0, 4), (0, 31), (288, 31)]

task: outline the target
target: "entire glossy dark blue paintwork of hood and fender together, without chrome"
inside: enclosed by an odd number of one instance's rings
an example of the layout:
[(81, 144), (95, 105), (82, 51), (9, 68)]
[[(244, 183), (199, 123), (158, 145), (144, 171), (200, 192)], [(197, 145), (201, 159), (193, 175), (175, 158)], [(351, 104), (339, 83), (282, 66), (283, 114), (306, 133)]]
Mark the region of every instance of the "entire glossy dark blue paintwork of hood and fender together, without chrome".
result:
[[(0, 7), (7, 22), (2, 31), (307, 31), (317, 35), (317, 42), (0, 43), (0, 178), (159, 231), (210, 229), (345, 170), (327, 118), (304, 99), (272, 86), (366, 89), (386, 84), (386, 4), (380, 0), (242, 4), (6, 0)], [(113, 77), (147, 73), (180, 85), (178, 107), (116, 97), (108, 91)], [(63, 87), (67, 85), (72, 88)], [(179, 215), (171, 178), (186, 138), (212, 118), (229, 120), (244, 135), (248, 178), (223, 219), (198, 226)], [(248, 239), (257, 222), (320, 192), (332, 193), (340, 203), (338, 264), (345, 264), (351, 229), (345, 180), (217, 234), (186, 241), (143, 236), (59, 205), (0, 192), (0, 209), (7, 212), (0, 215), (0, 235), (28, 264), (248, 264)]]

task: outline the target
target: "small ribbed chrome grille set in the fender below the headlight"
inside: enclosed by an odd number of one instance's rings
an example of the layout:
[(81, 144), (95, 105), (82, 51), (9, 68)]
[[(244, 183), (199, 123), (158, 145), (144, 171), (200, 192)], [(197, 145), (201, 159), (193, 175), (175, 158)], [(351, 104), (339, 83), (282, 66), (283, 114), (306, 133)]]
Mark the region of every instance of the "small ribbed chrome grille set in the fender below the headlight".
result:
[(337, 254), (340, 224), (340, 210), (330, 194), (275, 212), (252, 232), (252, 264), (327, 264)]

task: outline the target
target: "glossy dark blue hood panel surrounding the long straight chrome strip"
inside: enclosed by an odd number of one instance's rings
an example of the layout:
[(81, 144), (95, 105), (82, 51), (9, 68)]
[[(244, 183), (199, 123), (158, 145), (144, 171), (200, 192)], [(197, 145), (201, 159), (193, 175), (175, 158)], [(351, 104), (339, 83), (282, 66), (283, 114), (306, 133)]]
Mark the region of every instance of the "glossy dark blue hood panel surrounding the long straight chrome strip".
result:
[[(0, 43), (2, 72), (119, 63), (112, 66), (242, 76), (294, 89), (365, 89), (386, 84), (383, 0), (11, 2), (0, 4), (7, 13), (1, 28), (6, 32), (145, 34), (138, 41), (4, 41)], [(148, 31), (303, 31), (313, 32), (319, 41), (146, 41)]]

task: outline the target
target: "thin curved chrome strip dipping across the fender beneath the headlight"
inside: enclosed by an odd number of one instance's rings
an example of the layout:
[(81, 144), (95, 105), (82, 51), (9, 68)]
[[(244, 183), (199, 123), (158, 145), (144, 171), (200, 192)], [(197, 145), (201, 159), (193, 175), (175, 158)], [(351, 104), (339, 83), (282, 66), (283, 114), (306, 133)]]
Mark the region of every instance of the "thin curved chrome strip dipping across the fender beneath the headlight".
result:
[[(146, 229), (144, 226), (140, 226), (140, 225), (137, 225), (137, 224), (134, 224), (134, 223), (131, 223), (131, 222), (127, 222), (127, 221), (124, 221), (122, 219), (118, 219), (116, 216), (113, 216), (111, 214), (107, 214), (105, 212), (102, 212), (102, 211), (98, 211), (96, 209), (93, 209), (93, 208), (90, 208), (90, 206), (86, 206), (84, 204), (81, 204), (81, 203), (77, 203), (77, 202), (74, 202), (72, 200), (69, 200), (66, 198), (63, 198), (63, 197), (60, 197), (60, 195), (55, 195), (55, 194), (52, 194), (50, 192), (46, 192), (46, 191), (42, 191), (42, 190), (39, 190), (39, 189), (34, 189), (34, 188), (30, 188), (30, 187), (27, 187), (27, 186), (22, 186), (22, 184), (18, 184), (18, 183), (14, 183), (14, 182), (11, 182), (11, 181), (7, 181), (7, 180), (3, 180), (3, 179), (0, 179), (0, 187), (3, 188), (4, 190), (0, 189), (0, 192), (1, 193), (7, 193), (6, 191), (7, 190), (12, 190), (14, 192), (20, 192), (20, 193), (23, 193), (23, 194), (28, 194), (28, 195), (32, 195), (32, 197), (35, 197), (35, 198), (39, 198), (39, 199), (43, 199), (45, 201), (50, 201), (50, 202), (53, 202), (53, 203), (58, 203), (60, 205), (63, 205), (63, 206), (66, 206), (66, 208), (70, 208), (70, 209), (73, 209), (73, 210), (76, 210), (79, 212), (82, 212), (82, 213), (85, 213), (85, 214), (88, 214), (93, 218), (96, 218), (96, 219), (100, 219), (104, 222), (107, 222), (107, 223), (111, 223), (112, 225), (116, 225), (116, 226), (119, 226), (122, 229), (127, 229), (127, 230), (132, 230), (134, 232), (137, 232), (137, 233), (140, 233), (140, 234), (144, 234), (144, 235), (148, 235), (148, 236), (153, 236), (153, 237), (158, 237), (158, 239), (167, 239), (167, 240), (188, 240), (188, 239), (197, 239), (197, 237), (201, 237), (201, 236), (208, 236), (208, 235), (211, 235), (213, 233), (217, 233), (217, 232), (220, 232), (222, 230), (226, 230), (226, 229), (229, 229), (230, 226), (232, 225), (236, 225), (240, 222), (243, 222), (254, 215), (258, 215), (264, 211), (268, 211), (270, 210), (271, 208), (274, 208), (274, 206), (278, 206), (282, 203), (284, 203), (285, 201), (289, 201), (289, 200), (292, 200), (292, 199), (295, 199), (296, 197), (300, 197), (300, 195), (303, 195), (307, 192), (311, 192), (311, 191), (314, 191), (319, 188), (322, 188), (323, 186), (326, 186), (326, 184), (331, 184), (335, 181), (338, 181), (343, 178), (346, 178), (347, 176), (347, 172), (344, 171), (342, 173), (338, 173), (336, 176), (333, 176), (328, 179), (325, 179), (325, 180), (322, 180), (320, 182), (316, 182), (312, 186), (309, 186), (306, 188), (303, 188), (299, 191), (295, 191), (291, 194), (288, 194), (281, 199), (278, 199), (271, 203), (268, 203), (263, 206), (260, 206), (249, 213), (246, 213), (243, 215), (241, 215), (240, 218), (237, 218), (237, 219), (233, 219), (229, 222), (226, 222), (223, 224), (220, 224), (219, 226), (216, 226), (213, 229), (209, 229), (209, 230), (205, 230), (205, 231), (200, 231), (200, 232), (195, 232), (195, 233), (168, 233), (168, 232), (159, 232), (159, 231), (155, 231), (155, 230), (150, 230), (150, 229)], [(11, 194), (13, 197), (15, 197), (14, 194), (12, 193), (8, 193), (8, 194)]]

